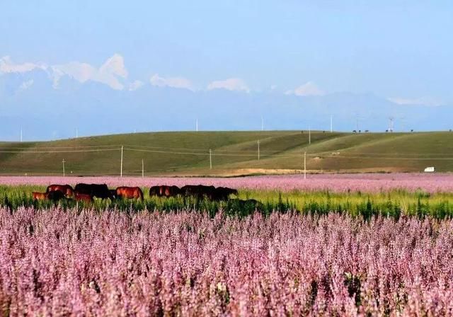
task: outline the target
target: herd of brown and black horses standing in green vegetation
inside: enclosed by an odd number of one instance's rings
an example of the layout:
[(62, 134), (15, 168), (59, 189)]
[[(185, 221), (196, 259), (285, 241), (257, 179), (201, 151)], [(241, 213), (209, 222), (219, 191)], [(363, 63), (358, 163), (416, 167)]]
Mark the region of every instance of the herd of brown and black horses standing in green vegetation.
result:
[[(52, 184), (47, 186), (45, 192), (33, 192), (33, 200), (74, 199), (76, 201), (93, 202), (93, 199), (136, 199), (143, 200), (143, 192), (139, 187), (121, 186), (112, 190), (106, 184), (85, 184), (79, 183), (74, 188), (71, 185)], [(234, 188), (214, 187), (207, 185), (185, 185), (178, 186), (159, 185), (149, 188), (149, 196), (157, 197), (196, 197), (209, 200), (228, 200), (230, 195), (238, 195)]]

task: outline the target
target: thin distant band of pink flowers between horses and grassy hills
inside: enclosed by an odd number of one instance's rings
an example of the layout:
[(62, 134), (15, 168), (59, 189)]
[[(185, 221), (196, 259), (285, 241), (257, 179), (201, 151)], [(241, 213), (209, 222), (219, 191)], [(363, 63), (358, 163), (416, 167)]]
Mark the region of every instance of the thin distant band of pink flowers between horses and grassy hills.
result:
[(111, 187), (152, 185), (205, 184), (247, 188), (251, 190), (331, 190), (346, 192), (379, 192), (394, 189), (425, 190), (427, 192), (452, 192), (453, 174), (320, 174), (249, 176), (242, 178), (133, 178), (133, 177), (55, 177), (55, 176), (1, 176), (3, 185), (49, 185), (52, 183), (106, 183)]

